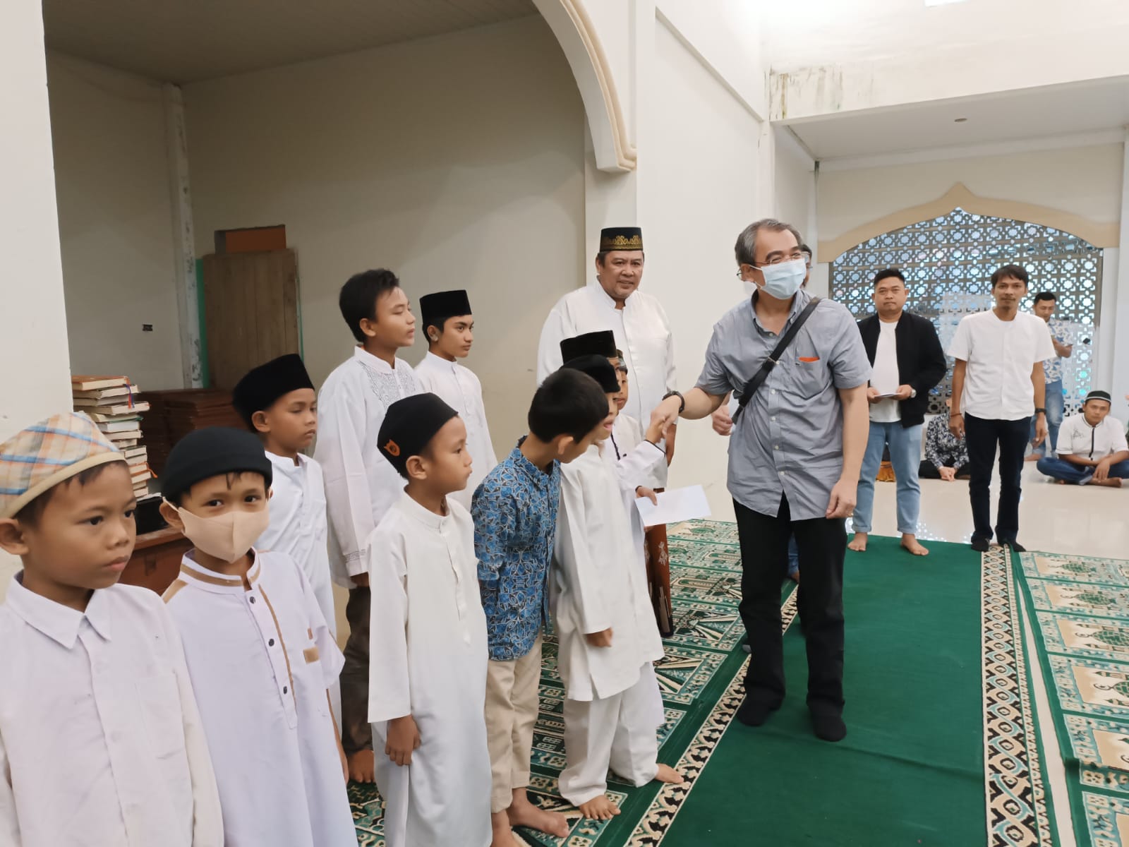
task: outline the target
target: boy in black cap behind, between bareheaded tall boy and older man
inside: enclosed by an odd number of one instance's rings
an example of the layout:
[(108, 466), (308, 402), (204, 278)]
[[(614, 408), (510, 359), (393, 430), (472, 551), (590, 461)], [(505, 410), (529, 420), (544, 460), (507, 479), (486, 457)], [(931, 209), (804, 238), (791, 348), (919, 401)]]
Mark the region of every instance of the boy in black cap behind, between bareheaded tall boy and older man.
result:
[(466, 449), (474, 464), (466, 488), (450, 496), (470, 510), (475, 489), (498, 464), (487, 426), (482, 383), (474, 372), (456, 361), (470, 355), (474, 342), (471, 300), (466, 291), (426, 294), (420, 297), (420, 315), (428, 351), (415, 366), (415, 381), (420, 391), (431, 392), (458, 412), (466, 427)]

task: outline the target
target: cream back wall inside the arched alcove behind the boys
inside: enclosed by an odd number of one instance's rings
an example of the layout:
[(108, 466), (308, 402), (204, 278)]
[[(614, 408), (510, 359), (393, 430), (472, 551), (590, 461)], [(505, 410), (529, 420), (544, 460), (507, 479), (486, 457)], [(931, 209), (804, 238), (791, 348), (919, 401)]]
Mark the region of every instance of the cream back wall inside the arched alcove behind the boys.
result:
[[(548, 26), (527, 18), (186, 86), (198, 253), (216, 229), (285, 224), (315, 383), (350, 355), (350, 274), (409, 297), (465, 288), (467, 365), (499, 455), (524, 431), (536, 341), (585, 278), (584, 113)], [(405, 351), (415, 363), (425, 335)]]

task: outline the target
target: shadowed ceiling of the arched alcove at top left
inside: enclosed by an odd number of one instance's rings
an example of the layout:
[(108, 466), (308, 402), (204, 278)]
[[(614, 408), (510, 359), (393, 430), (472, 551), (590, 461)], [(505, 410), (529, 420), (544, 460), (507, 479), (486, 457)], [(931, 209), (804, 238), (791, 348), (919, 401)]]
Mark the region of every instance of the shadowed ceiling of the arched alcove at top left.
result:
[(47, 46), (168, 82), (535, 15), (532, 0), (44, 0)]

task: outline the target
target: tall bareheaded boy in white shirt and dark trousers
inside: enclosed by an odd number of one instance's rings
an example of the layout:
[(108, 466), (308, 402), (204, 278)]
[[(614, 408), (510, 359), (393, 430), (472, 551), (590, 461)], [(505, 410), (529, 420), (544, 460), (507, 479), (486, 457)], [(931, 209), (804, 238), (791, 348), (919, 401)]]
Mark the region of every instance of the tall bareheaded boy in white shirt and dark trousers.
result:
[(388, 407), (419, 393), (411, 366), (396, 356), (415, 340), (415, 318), (400, 279), (390, 270), (365, 271), (341, 287), (341, 316), (357, 339), (352, 356), (326, 377), (317, 396), (316, 459), (324, 471), (330, 518), (330, 567), (349, 590), (349, 640), (341, 671), (341, 741), (349, 776), (373, 781), (373, 731), (368, 723), (368, 549), (365, 543), (404, 481), (380, 459), (377, 436)]

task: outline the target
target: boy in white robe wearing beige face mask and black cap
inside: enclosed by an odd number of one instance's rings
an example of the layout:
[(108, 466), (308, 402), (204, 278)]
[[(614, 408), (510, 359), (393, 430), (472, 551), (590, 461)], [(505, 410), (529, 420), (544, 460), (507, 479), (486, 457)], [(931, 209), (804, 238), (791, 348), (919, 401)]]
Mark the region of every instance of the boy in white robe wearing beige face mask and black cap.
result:
[(253, 547), (273, 466), (224, 427), (177, 442), (160, 512), (194, 544), (165, 592), (216, 768), (231, 847), (353, 847), (345, 762), (329, 690), (338, 649), (301, 568)]

